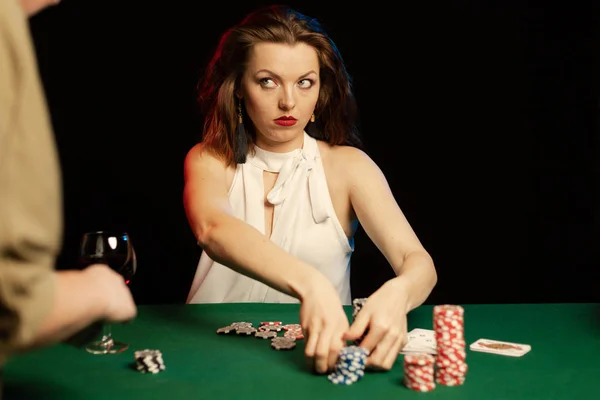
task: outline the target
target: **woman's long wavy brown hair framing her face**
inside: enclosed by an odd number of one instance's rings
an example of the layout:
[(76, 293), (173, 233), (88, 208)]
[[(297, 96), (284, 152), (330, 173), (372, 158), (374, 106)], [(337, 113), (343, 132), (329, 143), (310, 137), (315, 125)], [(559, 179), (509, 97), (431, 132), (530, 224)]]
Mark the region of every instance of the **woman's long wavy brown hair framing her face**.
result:
[(205, 145), (228, 165), (246, 162), (256, 133), (246, 117), (246, 137), (238, 134), (235, 93), (252, 46), (262, 42), (305, 43), (317, 51), (321, 88), (315, 122), (307, 125), (306, 132), (332, 145), (362, 148), (351, 77), (340, 52), (315, 18), (285, 5), (260, 8), (221, 37), (199, 83), (198, 100), (205, 115), (202, 139)]

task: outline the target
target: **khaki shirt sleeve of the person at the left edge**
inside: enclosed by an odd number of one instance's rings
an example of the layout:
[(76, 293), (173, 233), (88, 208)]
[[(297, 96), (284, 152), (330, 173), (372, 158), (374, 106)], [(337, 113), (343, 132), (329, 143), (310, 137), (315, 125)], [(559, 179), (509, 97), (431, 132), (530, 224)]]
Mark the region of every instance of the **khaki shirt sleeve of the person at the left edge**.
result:
[(0, 356), (52, 307), (62, 242), (59, 164), (28, 19), (0, 0)]

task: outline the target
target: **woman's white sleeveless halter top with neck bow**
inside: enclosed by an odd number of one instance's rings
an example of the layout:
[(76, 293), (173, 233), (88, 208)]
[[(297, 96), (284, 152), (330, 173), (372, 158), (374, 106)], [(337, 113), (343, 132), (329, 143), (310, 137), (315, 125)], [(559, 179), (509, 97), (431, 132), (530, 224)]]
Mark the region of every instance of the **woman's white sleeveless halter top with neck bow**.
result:
[[(234, 216), (265, 233), (263, 171), (278, 172), (267, 200), (273, 204), (271, 241), (321, 271), (344, 305), (351, 304), (348, 240), (329, 196), (317, 141), (304, 133), (302, 149), (273, 153), (255, 146), (238, 164), (229, 189)], [(214, 262), (206, 252), (187, 303), (298, 303), (294, 297)]]

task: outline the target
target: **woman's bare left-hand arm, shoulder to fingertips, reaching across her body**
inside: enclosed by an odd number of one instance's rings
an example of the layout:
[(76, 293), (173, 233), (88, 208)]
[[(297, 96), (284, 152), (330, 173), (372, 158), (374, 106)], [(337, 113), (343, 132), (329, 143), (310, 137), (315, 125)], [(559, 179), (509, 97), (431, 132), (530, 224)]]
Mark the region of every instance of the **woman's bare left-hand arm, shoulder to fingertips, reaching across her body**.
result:
[(215, 261), (298, 298), (304, 349), (317, 372), (333, 368), (348, 329), (333, 284), (316, 268), (234, 217), (222, 162), (197, 145), (185, 160), (184, 205), (200, 246)]

